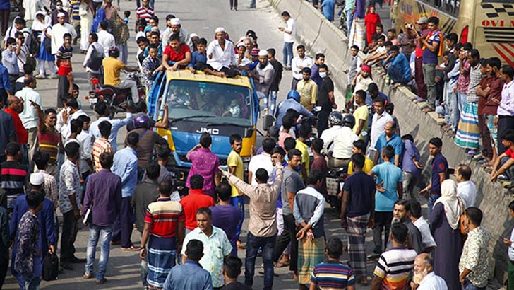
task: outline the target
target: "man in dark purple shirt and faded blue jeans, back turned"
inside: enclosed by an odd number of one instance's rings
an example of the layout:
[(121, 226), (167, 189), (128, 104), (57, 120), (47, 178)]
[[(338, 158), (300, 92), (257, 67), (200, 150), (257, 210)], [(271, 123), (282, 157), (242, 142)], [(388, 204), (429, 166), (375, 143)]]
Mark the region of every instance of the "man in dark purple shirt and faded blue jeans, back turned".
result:
[(121, 178), (111, 172), (113, 158), (112, 153), (108, 152), (100, 155), (102, 170), (90, 175), (88, 185), (85, 187), (84, 207), (82, 208), (83, 216), (92, 216), (85, 222), (85, 226), (89, 226), (89, 242), (86, 250), (88, 261), (85, 263), (83, 277), (85, 279), (92, 277), (96, 246), (100, 239), (100, 260), (96, 272), (97, 284), (107, 282), (104, 275), (109, 262), (112, 224), (114, 224), (116, 216), (119, 216), (121, 204)]

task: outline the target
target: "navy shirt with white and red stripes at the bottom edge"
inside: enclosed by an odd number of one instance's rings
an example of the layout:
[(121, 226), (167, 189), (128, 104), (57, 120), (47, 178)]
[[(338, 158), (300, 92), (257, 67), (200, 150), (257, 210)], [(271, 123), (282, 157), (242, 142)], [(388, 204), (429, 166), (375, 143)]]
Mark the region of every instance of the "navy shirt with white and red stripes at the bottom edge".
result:
[(342, 265), (339, 261), (326, 261), (314, 267), (311, 282), (323, 289), (346, 289), (355, 284), (354, 272), (350, 267)]

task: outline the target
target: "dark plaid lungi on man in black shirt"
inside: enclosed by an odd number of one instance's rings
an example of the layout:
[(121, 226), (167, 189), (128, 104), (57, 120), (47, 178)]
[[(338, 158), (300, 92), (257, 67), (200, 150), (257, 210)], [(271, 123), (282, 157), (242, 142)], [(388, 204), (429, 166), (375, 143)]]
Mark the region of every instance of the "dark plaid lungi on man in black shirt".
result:
[(366, 276), (366, 228), (369, 214), (346, 218), (348, 228), (348, 255), (355, 277)]

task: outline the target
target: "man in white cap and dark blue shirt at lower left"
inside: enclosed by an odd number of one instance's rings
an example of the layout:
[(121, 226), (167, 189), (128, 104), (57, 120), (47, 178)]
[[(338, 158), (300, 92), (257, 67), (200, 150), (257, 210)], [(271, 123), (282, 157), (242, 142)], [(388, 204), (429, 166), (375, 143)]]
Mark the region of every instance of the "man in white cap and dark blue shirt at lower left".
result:
[[(44, 176), (41, 173), (32, 173), (29, 178), (29, 183), (32, 192), (44, 193)], [(25, 288), (25, 279), (21, 273), (14, 271), (14, 261), (16, 260), (16, 248), (18, 247), (18, 226), (20, 219), (28, 211), (27, 195), (20, 195), (16, 198), (13, 207), (13, 216), (11, 217), (11, 224), (9, 226), (11, 231), (11, 240), (16, 238), (13, 245), (13, 257), (11, 257), (11, 273), (15, 274), (18, 278), (20, 289)], [(54, 228), (54, 204), (50, 199), (44, 198), (43, 207), (37, 214), (37, 220), (40, 223), (40, 238), (38, 238), (38, 246), (41, 250), (39, 257), (34, 257), (33, 272), (34, 277), (41, 279), (43, 269), (44, 254), (47, 252), (55, 253), (55, 246), (57, 243), (57, 236)]]

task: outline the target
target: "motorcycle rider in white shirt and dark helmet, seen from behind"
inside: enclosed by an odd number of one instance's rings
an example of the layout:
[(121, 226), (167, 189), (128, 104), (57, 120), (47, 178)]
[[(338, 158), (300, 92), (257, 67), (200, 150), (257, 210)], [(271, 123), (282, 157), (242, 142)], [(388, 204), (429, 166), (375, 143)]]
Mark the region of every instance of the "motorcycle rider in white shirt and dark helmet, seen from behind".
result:
[[(327, 144), (334, 142), (334, 150), (328, 152), (328, 168), (342, 168), (348, 166), (352, 157), (353, 142), (359, 137), (352, 131), (355, 125), (355, 118), (346, 115), (342, 118), (342, 127), (332, 136), (328, 137)], [(325, 147), (326, 149), (326, 147)]]

